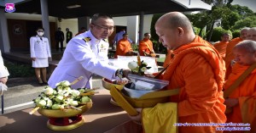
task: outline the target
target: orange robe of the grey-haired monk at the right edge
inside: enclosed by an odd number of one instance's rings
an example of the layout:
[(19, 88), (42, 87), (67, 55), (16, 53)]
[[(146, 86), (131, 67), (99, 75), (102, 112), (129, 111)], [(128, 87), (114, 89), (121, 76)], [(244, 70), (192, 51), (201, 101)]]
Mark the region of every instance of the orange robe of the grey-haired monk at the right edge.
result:
[[(224, 90), (234, 84), (248, 67), (235, 64), (232, 73), (224, 84)], [(241, 85), (229, 97), (238, 98), (239, 104), (233, 107), (230, 114), (227, 114), (227, 122), (249, 123), (252, 128), (251, 132), (256, 132), (256, 69), (241, 82)]]

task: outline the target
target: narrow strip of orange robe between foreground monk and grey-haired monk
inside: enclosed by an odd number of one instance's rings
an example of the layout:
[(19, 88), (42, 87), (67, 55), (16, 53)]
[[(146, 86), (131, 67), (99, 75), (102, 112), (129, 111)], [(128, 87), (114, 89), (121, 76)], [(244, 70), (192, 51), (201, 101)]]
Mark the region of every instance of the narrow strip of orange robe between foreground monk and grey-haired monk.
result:
[(242, 41), (242, 39), (240, 37), (236, 37), (236, 38), (232, 39), (226, 47), (226, 57), (225, 57), (226, 75), (225, 75), (225, 80), (228, 79), (228, 77), (231, 73), (230, 63), (231, 63), (231, 60), (234, 59), (232, 49), (233, 49), (233, 47), (236, 46), (237, 43), (239, 43), (241, 41)]

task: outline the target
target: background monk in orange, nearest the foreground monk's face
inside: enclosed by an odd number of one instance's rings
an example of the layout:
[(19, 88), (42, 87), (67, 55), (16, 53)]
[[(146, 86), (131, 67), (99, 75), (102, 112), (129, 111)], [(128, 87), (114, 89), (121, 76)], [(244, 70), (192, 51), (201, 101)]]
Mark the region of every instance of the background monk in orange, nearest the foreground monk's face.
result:
[(144, 39), (139, 44), (139, 54), (141, 56), (155, 57), (153, 43), (150, 41), (151, 35), (149, 33), (144, 34)]

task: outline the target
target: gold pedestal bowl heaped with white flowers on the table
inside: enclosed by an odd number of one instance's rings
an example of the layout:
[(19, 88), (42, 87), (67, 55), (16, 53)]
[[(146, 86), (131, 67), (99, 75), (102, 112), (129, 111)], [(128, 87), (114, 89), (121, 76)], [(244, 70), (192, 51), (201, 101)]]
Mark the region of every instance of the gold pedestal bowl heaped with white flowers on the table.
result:
[(39, 96), (32, 101), (38, 113), (49, 118), (47, 126), (51, 130), (72, 130), (84, 124), (82, 114), (92, 107), (91, 95), (87, 88), (72, 89), (67, 81), (61, 81), (55, 88), (45, 86)]

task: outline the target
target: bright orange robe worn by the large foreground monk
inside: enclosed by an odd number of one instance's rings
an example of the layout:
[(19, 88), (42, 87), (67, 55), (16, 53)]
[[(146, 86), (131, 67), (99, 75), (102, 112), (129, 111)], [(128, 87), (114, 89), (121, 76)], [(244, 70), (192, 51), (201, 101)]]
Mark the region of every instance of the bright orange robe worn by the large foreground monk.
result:
[[(170, 81), (167, 89), (180, 88), (179, 95), (170, 97), (170, 102), (177, 103), (178, 123), (225, 123), (224, 61), (215, 48), (196, 36), (173, 54), (171, 65), (160, 79)], [(178, 132), (222, 132), (216, 127), (178, 126)]]

